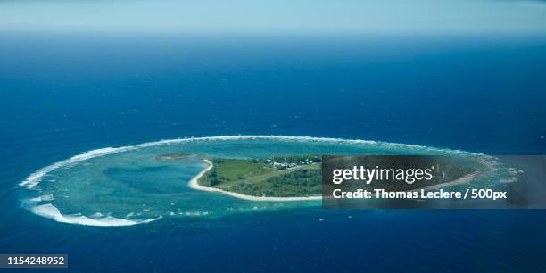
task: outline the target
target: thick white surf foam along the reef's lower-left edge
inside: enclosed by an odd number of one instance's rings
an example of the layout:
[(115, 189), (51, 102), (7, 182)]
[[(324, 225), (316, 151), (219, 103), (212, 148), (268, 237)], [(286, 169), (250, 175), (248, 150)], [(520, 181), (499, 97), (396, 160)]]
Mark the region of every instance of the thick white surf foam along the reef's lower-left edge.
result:
[[(119, 219), (112, 216), (95, 215), (96, 218), (88, 218), (81, 214), (74, 215), (62, 215), (61, 211), (57, 209), (53, 204), (46, 203), (30, 209), (34, 214), (45, 217), (47, 219), (54, 219), (57, 222), (78, 224), (85, 226), (100, 226), (100, 227), (119, 227), (119, 226), (133, 226), (136, 224), (149, 223), (156, 219)], [(161, 219), (161, 216), (157, 219)]]

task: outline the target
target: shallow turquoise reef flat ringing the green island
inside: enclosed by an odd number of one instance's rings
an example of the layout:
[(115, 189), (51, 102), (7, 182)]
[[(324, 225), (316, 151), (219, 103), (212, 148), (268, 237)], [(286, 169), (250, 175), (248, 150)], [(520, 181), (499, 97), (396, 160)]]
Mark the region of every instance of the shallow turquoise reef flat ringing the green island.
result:
[[(473, 164), (479, 171), (472, 181), (476, 184), (489, 185), (513, 177), (508, 168), (492, 156), (458, 150), (310, 136), (211, 136), (81, 153), (30, 174), (21, 181), (18, 192), (24, 208), (39, 216), (71, 224), (127, 226), (166, 218), (219, 219), (235, 213), (319, 206), (320, 201), (310, 198), (281, 202), (272, 196), (273, 199), (264, 202), (195, 190), (189, 182), (210, 167), (203, 160), (227, 159), (232, 164), (254, 160), (266, 164), (268, 159), (287, 154), (365, 153), (449, 154)], [(312, 177), (315, 167), (310, 163), (300, 168), (309, 169), (310, 173), (306, 175)], [(291, 167), (273, 171), (289, 175), (290, 170)], [(271, 173), (266, 171), (260, 175)], [(241, 174), (232, 172), (230, 175)], [(282, 180), (283, 176), (271, 178)], [(300, 194), (293, 198), (312, 195)]]

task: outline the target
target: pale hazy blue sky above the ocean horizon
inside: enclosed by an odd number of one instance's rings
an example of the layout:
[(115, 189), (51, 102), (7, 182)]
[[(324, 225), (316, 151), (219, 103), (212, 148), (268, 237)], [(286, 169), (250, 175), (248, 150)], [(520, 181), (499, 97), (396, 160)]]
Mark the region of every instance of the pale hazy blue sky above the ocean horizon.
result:
[(0, 29), (546, 33), (546, 3), (517, 0), (0, 0)]

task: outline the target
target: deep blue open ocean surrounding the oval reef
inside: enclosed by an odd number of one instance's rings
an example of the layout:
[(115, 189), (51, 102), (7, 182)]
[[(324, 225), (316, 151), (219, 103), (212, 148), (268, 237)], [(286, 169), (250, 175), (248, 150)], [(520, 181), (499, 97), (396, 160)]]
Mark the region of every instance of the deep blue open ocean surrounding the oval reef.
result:
[(74, 272), (546, 267), (545, 211), (306, 208), (87, 227), (22, 209), (16, 189), (77, 153), (185, 136), (544, 154), (546, 37), (0, 35), (2, 253), (68, 253)]

